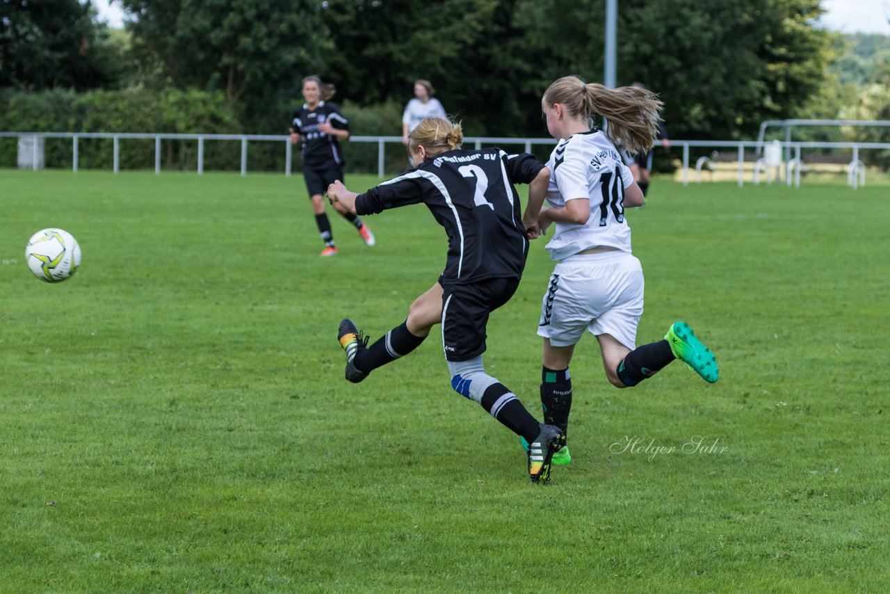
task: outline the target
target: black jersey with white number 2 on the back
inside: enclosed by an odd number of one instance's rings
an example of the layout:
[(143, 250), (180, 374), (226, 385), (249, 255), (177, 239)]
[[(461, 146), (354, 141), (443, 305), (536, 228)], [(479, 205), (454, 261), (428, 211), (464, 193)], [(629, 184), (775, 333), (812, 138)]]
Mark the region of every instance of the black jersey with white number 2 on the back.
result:
[(448, 233), (442, 283), (522, 276), (529, 242), (514, 183), (530, 183), (543, 165), (499, 149), (448, 151), (428, 158), (355, 200), (359, 215), (423, 202)]

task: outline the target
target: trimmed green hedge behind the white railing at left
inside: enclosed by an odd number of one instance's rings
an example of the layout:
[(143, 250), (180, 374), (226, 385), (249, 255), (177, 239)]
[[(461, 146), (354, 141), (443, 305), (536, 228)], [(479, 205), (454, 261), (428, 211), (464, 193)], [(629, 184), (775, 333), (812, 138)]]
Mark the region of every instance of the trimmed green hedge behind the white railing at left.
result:
[[(284, 171), (285, 137), (296, 100), (272, 106), (280, 114), (282, 142), (251, 142), (248, 146), (248, 171)], [(401, 134), (401, 106), (384, 103), (359, 107), (346, 103), (344, 115), (350, 120), (352, 134)], [(0, 92), (0, 130), (13, 132), (126, 132), (166, 134), (256, 134), (239, 123), (238, 112), (226, 101), (224, 94), (206, 91), (166, 89), (150, 91), (128, 88), (120, 91), (92, 91), (77, 94), (71, 91), (46, 91), (26, 94)], [(0, 139), (0, 167), (16, 167), (18, 143), (15, 138)], [(71, 167), (73, 146), (70, 139), (46, 139), (46, 167)], [(344, 145), (348, 172), (376, 172), (376, 143), (346, 142)], [(108, 139), (80, 139), (77, 143), (78, 167), (110, 169), (113, 164), (113, 142)], [(293, 151), (292, 167), (300, 168), (300, 151)], [(401, 144), (388, 143), (385, 150), (386, 170), (401, 171), (407, 167)], [(204, 168), (238, 171), (241, 146), (236, 141), (206, 141)], [(121, 169), (151, 169), (155, 165), (153, 140), (123, 139), (119, 144), (118, 164)], [(164, 141), (161, 167), (165, 170), (196, 170), (197, 141)]]

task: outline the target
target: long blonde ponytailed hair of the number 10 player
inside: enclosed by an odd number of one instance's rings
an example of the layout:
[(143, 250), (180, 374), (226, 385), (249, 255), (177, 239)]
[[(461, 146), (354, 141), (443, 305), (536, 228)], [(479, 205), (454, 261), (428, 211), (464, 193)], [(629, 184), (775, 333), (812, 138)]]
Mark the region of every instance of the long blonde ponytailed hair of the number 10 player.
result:
[(609, 122), (608, 134), (627, 151), (649, 151), (658, 137), (659, 111), (664, 103), (641, 86), (609, 89), (586, 84), (578, 77), (562, 77), (547, 87), (544, 102), (560, 103), (572, 116), (591, 119), (598, 114)]

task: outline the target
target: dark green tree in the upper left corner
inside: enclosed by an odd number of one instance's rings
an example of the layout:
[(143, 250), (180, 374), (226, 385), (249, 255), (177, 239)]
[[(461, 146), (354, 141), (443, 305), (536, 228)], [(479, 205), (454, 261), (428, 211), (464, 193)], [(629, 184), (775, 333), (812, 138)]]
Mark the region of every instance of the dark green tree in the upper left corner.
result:
[(109, 87), (119, 65), (119, 46), (89, 1), (0, 0), (0, 88)]

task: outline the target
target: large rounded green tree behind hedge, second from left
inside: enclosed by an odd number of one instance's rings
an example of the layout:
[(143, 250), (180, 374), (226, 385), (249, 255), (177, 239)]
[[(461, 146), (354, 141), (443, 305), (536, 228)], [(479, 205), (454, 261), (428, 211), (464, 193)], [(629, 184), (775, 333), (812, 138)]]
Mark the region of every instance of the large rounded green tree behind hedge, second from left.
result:
[(280, 131), (278, 107), (329, 48), (311, 0), (122, 0), (151, 85), (222, 90), (252, 131)]

